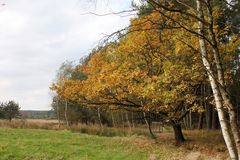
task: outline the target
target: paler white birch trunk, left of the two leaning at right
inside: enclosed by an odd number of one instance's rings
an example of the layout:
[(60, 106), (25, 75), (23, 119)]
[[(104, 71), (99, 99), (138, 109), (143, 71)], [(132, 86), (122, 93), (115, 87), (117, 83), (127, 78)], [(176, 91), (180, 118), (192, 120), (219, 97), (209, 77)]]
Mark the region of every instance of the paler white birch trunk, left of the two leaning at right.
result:
[[(196, 0), (196, 2), (197, 2), (198, 18), (203, 20), (204, 18), (203, 18), (201, 0)], [(227, 149), (228, 149), (231, 159), (238, 160), (237, 148), (235, 146), (235, 142), (231, 138), (231, 132), (227, 125), (227, 120), (224, 115), (222, 96), (221, 96), (219, 87), (217, 85), (217, 81), (214, 77), (214, 72), (211, 68), (210, 63), (208, 62), (208, 59), (207, 59), (207, 51), (206, 51), (205, 41), (201, 36), (201, 35), (204, 35), (204, 26), (203, 26), (202, 21), (200, 21), (200, 20), (198, 21), (198, 33), (200, 35), (199, 36), (199, 44), (200, 44), (201, 57), (202, 57), (203, 65), (207, 71), (209, 82), (210, 82), (210, 85), (211, 85), (211, 88), (213, 91), (213, 96), (214, 96), (216, 108), (218, 111), (218, 117), (219, 117), (221, 129), (222, 129), (223, 138), (227, 145)]]

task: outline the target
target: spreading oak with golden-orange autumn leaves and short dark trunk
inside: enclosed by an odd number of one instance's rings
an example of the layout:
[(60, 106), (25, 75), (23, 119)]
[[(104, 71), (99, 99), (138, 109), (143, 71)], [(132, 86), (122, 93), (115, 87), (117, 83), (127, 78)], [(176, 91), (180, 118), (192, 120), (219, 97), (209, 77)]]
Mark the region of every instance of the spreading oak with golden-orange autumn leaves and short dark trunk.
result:
[(54, 89), (82, 104), (161, 115), (173, 126), (176, 142), (183, 142), (180, 122), (190, 110), (201, 110), (195, 93), (205, 74), (195, 51), (172, 29), (159, 29), (157, 23), (152, 29), (161, 18), (152, 13), (133, 19), (130, 34), (94, 51), (79, 66), (87, 80), (65, 81)]

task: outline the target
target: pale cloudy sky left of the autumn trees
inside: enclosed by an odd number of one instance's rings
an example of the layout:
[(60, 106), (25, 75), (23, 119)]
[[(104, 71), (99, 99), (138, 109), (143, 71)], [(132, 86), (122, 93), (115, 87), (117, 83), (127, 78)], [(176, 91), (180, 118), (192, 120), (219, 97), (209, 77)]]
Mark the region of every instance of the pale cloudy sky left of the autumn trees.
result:
[[(92, 0), (93, 1), (93, 0)], [(50, 110), (49, 86), (60, 65), (86, 56), (129, 16), (96, 16), (130, 9), (131, 0), (0, 0), (0, 102)]]

